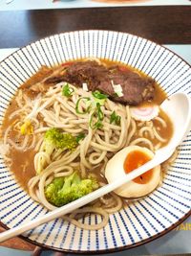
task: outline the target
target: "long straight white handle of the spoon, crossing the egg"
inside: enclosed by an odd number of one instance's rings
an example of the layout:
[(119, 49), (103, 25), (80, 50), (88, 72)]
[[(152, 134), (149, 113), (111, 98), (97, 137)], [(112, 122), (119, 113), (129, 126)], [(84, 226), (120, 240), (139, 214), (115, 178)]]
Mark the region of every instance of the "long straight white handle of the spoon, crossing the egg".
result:
[(27, 223), (22, 224), (20, 226), (12, 227), (11, 229), (0, 234), (0, 243), (6, 241), (8, 239), (11, 239), (12, 237), (18, 236), (28, 230), (31, 230), (32, 228), (34, 228), (36, 226), (39, 226), (39, 225), (44, 224), (49, 221), (53, 221), (56, 218), (66, 215), (66, 214), (74, 211), (75, 209), (114, 191), (121, 185), (124, 185), (128, 181), (138, 177), (139, 175), (146, 173), (148, 170), (159, 165), (161, 162), (166, 160), (172, 154), (172, 152), (173, 152), (172, 150), (164, 151), (162, 154), (159, 154), (158, 156), (156, 155), (151, 161), (138, 167), (138, 169), (134, 170), (130, 174), (125, 175), (125, 173), (124, 173), (124, 176), (118, 178), (115, 182), (113, 182), (111, 184), (107, 184), (107, 185), (97, 189), (96, 191), (92, 192), (91, 194), (88, 194), (87, 196), (78, 198), (78, 199), (74, 200), (73, 202), (70, 202), (60, 208), (57, 208), (57, 209), (53, 210), (52, 212), (49, 212), (48, 214), (39, 217), (36, 220), (28, 221)]

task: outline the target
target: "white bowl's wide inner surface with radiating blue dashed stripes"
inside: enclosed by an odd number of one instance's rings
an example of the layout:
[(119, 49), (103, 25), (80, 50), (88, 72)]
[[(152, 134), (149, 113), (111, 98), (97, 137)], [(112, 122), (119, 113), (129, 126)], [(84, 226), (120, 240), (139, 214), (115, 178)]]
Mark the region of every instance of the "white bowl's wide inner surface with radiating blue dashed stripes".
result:
[[(41, 65), (88, 57), (128, 63), (159, 81), (168, 95), (177, 91), (191, 94), (189, 65), (154, 42), (108, 31), (65, 33), (36, 41), (0, 63), (0, 125), (17, 87)], [(24, 237), (53, 249), (85, 253), (132, 247), (165, 234), (191, 213), (191, 133), (179, 151), (162, 185), (148, 197), (111, 215), (105, 228), (87, 231), (57, 219), (25, 233)], [(11, 228), (46, 213), (15, 182), (1, 157), (0, 221)], [(99, 216), (91, 215), (84, 221), (98, 220)]]

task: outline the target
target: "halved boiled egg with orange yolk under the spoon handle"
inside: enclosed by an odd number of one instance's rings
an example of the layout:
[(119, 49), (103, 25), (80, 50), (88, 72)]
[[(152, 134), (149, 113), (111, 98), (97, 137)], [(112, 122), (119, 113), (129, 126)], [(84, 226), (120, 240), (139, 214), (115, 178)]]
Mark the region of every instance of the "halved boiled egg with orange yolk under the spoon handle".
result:
[[(125, 176), (154, 157), (154, 153), (139, 146), (129, 146), (111, 158), (105, 169), (108, 183)], [(160, 165), (129, 181), (115, 190), (123, 198), (140, 198), (151, 193), (160, 182)]]

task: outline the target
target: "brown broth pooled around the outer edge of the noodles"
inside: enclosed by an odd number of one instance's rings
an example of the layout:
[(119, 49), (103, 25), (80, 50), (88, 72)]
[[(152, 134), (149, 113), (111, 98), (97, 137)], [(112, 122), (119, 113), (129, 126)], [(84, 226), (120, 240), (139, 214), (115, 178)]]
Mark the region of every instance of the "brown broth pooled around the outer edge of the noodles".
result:
[[(82, 60), (82, 59), (80, 59), (80, 60)], [(124, 68), (128, 68), (128, 69), (132, 70), (133, 72), (139, 72), (138, 70), (135, 70), (132, 67), (122, 64), (120, 62), (114, 62), (114, 61), (105, 60), (105, 59), (100, 59), (100, 60), (106, 66), (111, 66), (111, 65), (117, 64), (117, 65), (123, 66)], [(26, 81), (24, 84), (22, 84), (21, 88), (24, 91), (26, 91), (26, 88), (29, 87), (31, 84), (46, 78), (46, 76), (50, 75), (52, 72), (53, 72), (52, 68), (44, 68), (44, 67), (41, 68), (39, 70), (39, 72), (37, 72), (35, 75), (33, 75), (29, 81)], [(146, 77), (146, 75), (143, 73), (139, 72), (139, 74), (141, 76)], [(160, 88), (160, 86), (157, 82), (155, 84), (155, 87), (156, 87), (156, 95), (154, 97), (154, 100), (151, 103), (160, 105), (167, 98), (167, 95)], [(30, 96), (33, 98), (35, 95), (32, 94)], [(10, 121), (9, 116), (16, 109), (19, 109), (19, 107), (16, 104), (15, 98), (13, 98), (11, 101), (11, 104), (9, 105), (9, 107), (6, 111), (3, 126), (1, 128), (2, 134), (5, 132), (6, 128), (8, 128), (12, 124), (12, 120)], [(158, 121), (156, 121), (156, 125), (160, 128), (161, 135), (167, 139), (167, 143), (168, 143), (169, 139), (171, 138), (171, 136), (173, 134), (173, 126), (172, 126), (172, 123), (169, 120), (168, 116), (165, 113), (160, 112), (160, 116), (165, 120), (168, 128), (167, 129), (162, 128)], [(16, 118), (13, 121), (15, 121), (15, 120), (16, 120)], [(14, 135), (15, 135), (15, 133), (11, 132), (10, 136), (14, 137)], [(155, 144), (156, 142), (153, 141), (153, 143)], [(165, 145), (165, 143), (163, 145)], [(33, 157), (34, 157), (35, 153), (36, 153), (35, 151), (16, 151), (16, 150), (11, 149), (11, 159), (12, 159), (12, 164), (10, 167), (11, 172), (15, 175), (15, 178), (19, 182), (19, 184), (26, 190), (27, 190), (27, 186), (28, 186), (28, 182), (29, 182), (30, 178), (35, 175), (34, 166), (33, 166)]]

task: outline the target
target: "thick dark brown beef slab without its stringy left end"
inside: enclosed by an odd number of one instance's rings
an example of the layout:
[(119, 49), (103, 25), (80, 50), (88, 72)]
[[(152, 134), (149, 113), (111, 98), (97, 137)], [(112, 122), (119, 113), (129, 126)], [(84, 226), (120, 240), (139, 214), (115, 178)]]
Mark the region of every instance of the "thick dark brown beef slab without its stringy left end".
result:
[[(83, 82), (86, 82), (90, 91), (97, 89), (121, 104), (138, 105), (154, 97), (154, 80), (119, 66), (108, 69), (96, 61), (79, 61), (68, 67), (64, 77), (65, 81), (76, 86), (82, 86)], [(113, 84), (120, 84), (122, 97), (115, 94)]]

